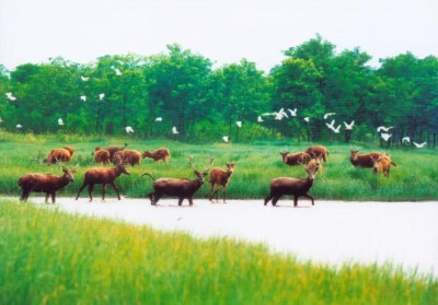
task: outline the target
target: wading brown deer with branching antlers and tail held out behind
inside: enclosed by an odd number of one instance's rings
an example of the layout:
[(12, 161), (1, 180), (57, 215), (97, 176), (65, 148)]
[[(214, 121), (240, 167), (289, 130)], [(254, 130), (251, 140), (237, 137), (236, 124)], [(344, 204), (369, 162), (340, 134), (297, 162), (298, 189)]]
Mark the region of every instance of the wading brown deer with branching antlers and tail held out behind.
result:
[(210, 164), (203, 172), (199, 172), (195, 168), (193, 164), (193, 157), (188, 159), (188, 163), (191, 164), (196, 178), (193, 180), (189, 179), (180, 179), (180, 178), (159, 178), (155, 179), (151, 174), (145, 173), (142, 176), (149, 176), (153, 180), (153, 191), (148, 195), (151, 200), (152, 206), (157, 206), (157, 202), (163, 196), (175, 196), (178, 198), (178, 206), (183, 204), (183, 200), (187, 198), (188, 204), (193, 206), (193, 196), (194, 193), (204, 185), (204, 178), (208, 175), (208, 169), (211, 167), (215, 159), (210, 159)]

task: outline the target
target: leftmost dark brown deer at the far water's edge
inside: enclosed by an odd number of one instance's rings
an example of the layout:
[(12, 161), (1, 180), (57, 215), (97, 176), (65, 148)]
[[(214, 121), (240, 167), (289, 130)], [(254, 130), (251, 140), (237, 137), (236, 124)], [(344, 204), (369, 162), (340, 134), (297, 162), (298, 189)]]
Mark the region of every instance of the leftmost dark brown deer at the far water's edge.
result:
[(56, 192), (74, 180), (73, 173), (77, 171), (77, 166), (69, 169), (59, 161), (58, 165), (62, 168), (62, 176), (32, 173), (20, 177), (19, 186), (23, 189), (20, 201), (27, 201), (31, 191), (36, 191), (46, 193), (46, 203), (48, 202), (48, 196), (50, 195), (51, 203), (55, 203)]

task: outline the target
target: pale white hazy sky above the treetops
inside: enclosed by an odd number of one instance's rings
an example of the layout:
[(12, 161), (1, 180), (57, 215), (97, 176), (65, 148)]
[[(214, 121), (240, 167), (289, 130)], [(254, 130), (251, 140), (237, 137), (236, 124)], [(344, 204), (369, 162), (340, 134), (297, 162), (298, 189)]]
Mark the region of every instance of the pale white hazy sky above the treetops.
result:
[(336, 51), (438, 56), (438, 0), (0, 0), (0, 63), (153, 55), (180, 44), (216, 64), (258, 69), (319, 33)]

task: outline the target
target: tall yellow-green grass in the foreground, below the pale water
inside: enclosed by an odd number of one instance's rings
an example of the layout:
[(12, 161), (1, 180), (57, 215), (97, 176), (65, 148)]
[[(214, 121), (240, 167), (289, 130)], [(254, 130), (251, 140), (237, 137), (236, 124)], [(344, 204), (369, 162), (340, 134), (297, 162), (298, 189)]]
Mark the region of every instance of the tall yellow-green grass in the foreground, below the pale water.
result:
[(4, 200), (0, 254), (0, 304), (438, 304), (436, 281), (391, 267), (335, 270)]

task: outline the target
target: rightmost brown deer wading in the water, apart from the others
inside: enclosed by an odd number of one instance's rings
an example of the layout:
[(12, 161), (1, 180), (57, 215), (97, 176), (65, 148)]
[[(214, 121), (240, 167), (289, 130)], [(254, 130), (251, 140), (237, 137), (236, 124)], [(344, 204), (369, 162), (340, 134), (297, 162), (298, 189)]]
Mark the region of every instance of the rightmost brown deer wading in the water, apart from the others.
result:
[(309, 190), (313, 186), (316, 171), (318, 167), (313, 171), (306, 168), (306, 172), (308, 173), (307, 178), (279, 177), (272, 179), (270, 192), (265, 198), (265, 206), (270, 199), (273, 200), (273, 206), (276, 206), (278, 199), (284, 195), (293, 195), (293, 207), (297, 207), (298, 197), (301, 196), (312, 200), (312, 206), (314, 206), (314, 198), (309, 193)]

